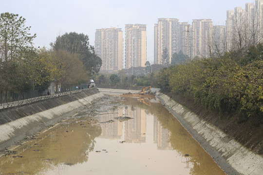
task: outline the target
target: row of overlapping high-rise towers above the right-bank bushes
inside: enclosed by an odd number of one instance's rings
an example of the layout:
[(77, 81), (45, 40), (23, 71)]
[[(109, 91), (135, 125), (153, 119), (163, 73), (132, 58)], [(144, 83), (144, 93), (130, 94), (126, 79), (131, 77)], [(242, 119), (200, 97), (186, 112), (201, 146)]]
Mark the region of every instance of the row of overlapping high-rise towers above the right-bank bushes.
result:
[(226, 11), (225, 26), (211, 19), (193, 19), (192, 25), (176, 18), (159, 18), (154, 24), (154, 64), (162, 64), (167, 48), (169, 59), (182, 51), (190, 58), (214, 57), (225, 52), (263, 43), (263, 0)]

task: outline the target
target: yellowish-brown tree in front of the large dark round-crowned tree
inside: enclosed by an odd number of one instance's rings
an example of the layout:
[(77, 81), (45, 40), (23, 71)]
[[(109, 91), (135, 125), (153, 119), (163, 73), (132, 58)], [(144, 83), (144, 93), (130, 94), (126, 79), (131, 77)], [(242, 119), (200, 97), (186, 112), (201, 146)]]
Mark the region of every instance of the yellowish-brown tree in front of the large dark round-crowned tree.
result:
[(39, 50), (39, 67), (41, 72), (47, 72), (47, 76), (35, 77), (35, 84), (54, 81), (58, 85), (69, 88), (71, 85), (87, 82), (89, 75), (83, 68), (78, 57), (65, 50), (47, 51), (45, 48)]

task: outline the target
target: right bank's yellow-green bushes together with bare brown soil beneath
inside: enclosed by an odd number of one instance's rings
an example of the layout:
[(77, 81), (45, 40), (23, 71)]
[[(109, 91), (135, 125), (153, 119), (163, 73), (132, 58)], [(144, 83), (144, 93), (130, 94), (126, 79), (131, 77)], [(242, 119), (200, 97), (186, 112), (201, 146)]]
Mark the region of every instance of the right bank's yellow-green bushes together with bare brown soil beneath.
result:
[(218, 58), (194, 59), (156, 75), (175, 101), (263, 154), (263, 45)]

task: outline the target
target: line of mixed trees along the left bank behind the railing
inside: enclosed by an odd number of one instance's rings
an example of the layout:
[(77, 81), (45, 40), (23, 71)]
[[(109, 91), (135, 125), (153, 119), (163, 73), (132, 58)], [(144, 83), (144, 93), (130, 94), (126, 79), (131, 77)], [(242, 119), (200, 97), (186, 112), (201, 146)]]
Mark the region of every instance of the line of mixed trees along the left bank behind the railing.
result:
[(89, 81), (102, 64), (88, 35), (75, 32), (56, 37), (51, 49), (35, 48), (25, 18), (0, 14), (0, 94), (47, 89), (51, 82), (64, 89)]

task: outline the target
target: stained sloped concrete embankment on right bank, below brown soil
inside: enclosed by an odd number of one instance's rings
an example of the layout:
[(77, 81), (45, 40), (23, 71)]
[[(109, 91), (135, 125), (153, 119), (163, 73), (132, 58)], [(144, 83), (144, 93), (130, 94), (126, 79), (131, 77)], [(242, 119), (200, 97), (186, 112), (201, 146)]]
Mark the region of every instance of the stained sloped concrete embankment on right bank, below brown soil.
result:
[(263, 157), (249, 151), (236, 140), (229, 138), (214, 125), (200, 119), (184, 106), (157, 93), (159, 99), (192, 137), (210, 154), (228, 175), (262, 175)]

